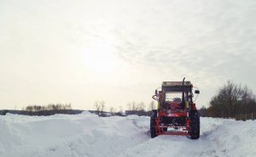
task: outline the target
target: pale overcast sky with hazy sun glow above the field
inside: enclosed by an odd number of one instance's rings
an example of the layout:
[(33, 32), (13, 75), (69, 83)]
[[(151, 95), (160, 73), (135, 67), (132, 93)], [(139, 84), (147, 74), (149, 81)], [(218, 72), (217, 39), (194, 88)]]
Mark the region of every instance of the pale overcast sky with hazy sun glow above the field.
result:
[(228, 80), (256, 93), (255, 14), (254, 0), (0, 0), (0, 109), (148, 106), (183, 77), (199, 108)]

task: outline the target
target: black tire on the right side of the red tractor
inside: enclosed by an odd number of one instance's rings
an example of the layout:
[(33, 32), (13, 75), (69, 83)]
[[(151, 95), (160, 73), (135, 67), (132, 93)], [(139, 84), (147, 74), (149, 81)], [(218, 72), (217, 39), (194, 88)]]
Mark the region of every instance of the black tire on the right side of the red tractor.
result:
[(194, 112), (190, 117), (190, 137), (198, 139), (200, 137), (200, 116), (198, 112)]

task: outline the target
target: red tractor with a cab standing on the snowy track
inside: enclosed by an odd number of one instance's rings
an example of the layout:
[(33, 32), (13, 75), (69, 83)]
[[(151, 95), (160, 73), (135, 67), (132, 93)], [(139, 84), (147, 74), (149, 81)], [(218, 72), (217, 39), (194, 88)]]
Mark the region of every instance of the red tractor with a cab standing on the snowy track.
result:
[[(153, 109), (150, 117), (151, 137), (158, 135), (184, 135), (191, 139), (200, 137), (200, 116), (193, 101), (192, 90), (193, 85), (190, 81), (185, 81), (185, 78), (183, 81), (163, 81), (161, 90), (155, 90), (152, 98), (158, 101), (158, 107)], [(195, 90), (195, 93), (199, 94), (200, 91)]]

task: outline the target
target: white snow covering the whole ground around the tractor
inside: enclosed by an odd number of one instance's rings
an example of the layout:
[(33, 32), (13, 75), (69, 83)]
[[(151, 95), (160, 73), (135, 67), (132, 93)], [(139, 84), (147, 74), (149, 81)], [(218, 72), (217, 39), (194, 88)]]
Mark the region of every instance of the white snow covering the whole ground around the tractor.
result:
[(256, 121), (201, 118), (201, 137), (149, 136), (149, 117), (0, 116), (1, 157), (256, 156)]

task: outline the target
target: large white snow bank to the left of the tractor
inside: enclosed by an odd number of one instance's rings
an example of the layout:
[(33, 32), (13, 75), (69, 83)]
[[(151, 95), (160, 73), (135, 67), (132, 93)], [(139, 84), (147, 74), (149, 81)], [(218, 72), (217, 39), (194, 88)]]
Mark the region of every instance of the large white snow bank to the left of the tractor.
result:
[(0, 156), (118, 156), (148, 140), (136, 117), (81, 115), (0, 117)]

